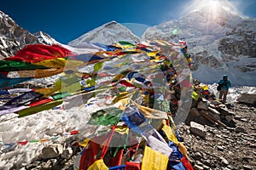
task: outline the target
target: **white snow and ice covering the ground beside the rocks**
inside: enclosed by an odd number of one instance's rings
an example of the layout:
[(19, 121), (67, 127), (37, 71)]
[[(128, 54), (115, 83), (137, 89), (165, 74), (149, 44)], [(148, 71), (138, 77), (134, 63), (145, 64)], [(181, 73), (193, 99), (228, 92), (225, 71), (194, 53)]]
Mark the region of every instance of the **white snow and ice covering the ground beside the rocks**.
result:
[[(216, 88), (216, 83), (209, 85), (209, 90), (218, 96)], [(228, 102), (236, 101), (242, 93), (256, 94), (256, 87), (230, 88)], [(85, 105), (70, 110), (42, 111), (21, 118), (18, 118), (16, 114), (1, 116), (0, 169), (10, 169), (14, 165), (25, 165), (37, 159), (44, 146), (52, 144), (53, 141), (60, 143), (72, 141), (74, 136), (70, 135), (69, 132), (73, 130), (79, 131), (81, 139), (102, 130), (102, 127), (86, 124), (90, 119), (90, 114), (99, 109), (101, 108), (98, 105)], [(45, 142), (44, 139), (48, 139), (48, 141)], [(33, 142), (33, 140), (41, 140), (41, 142)], [(30, 142), (22, 145), (17, 143), (19, 141)]]

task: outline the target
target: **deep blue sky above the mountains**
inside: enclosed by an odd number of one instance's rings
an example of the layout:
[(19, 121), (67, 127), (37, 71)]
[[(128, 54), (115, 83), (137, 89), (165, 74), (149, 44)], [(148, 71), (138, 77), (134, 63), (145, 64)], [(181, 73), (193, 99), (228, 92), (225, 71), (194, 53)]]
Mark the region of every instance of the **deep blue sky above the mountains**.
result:
[[(178, 19), (198, 1), (201, 0), (5, 0), (0, 10), (32, 33), (44, 31), (58, 42), (67, 43), (112, 20), (139, 31)], [(256, 0), (229, 1), (242, 14), (256, 16)]]

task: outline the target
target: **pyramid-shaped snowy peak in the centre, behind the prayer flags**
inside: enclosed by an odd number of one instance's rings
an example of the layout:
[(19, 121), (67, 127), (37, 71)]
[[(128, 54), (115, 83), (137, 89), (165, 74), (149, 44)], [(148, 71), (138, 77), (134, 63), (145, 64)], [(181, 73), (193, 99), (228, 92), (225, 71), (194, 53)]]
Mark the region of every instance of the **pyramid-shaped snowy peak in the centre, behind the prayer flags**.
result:
[(72, 42), (68, 42), (68, 45), (76, 48), (84, 48), (87, 42), (112, 44), (119, 41), (140, 42), (140, 38), (135, 36), (128, 28), (113, 20), (85, 33)]

